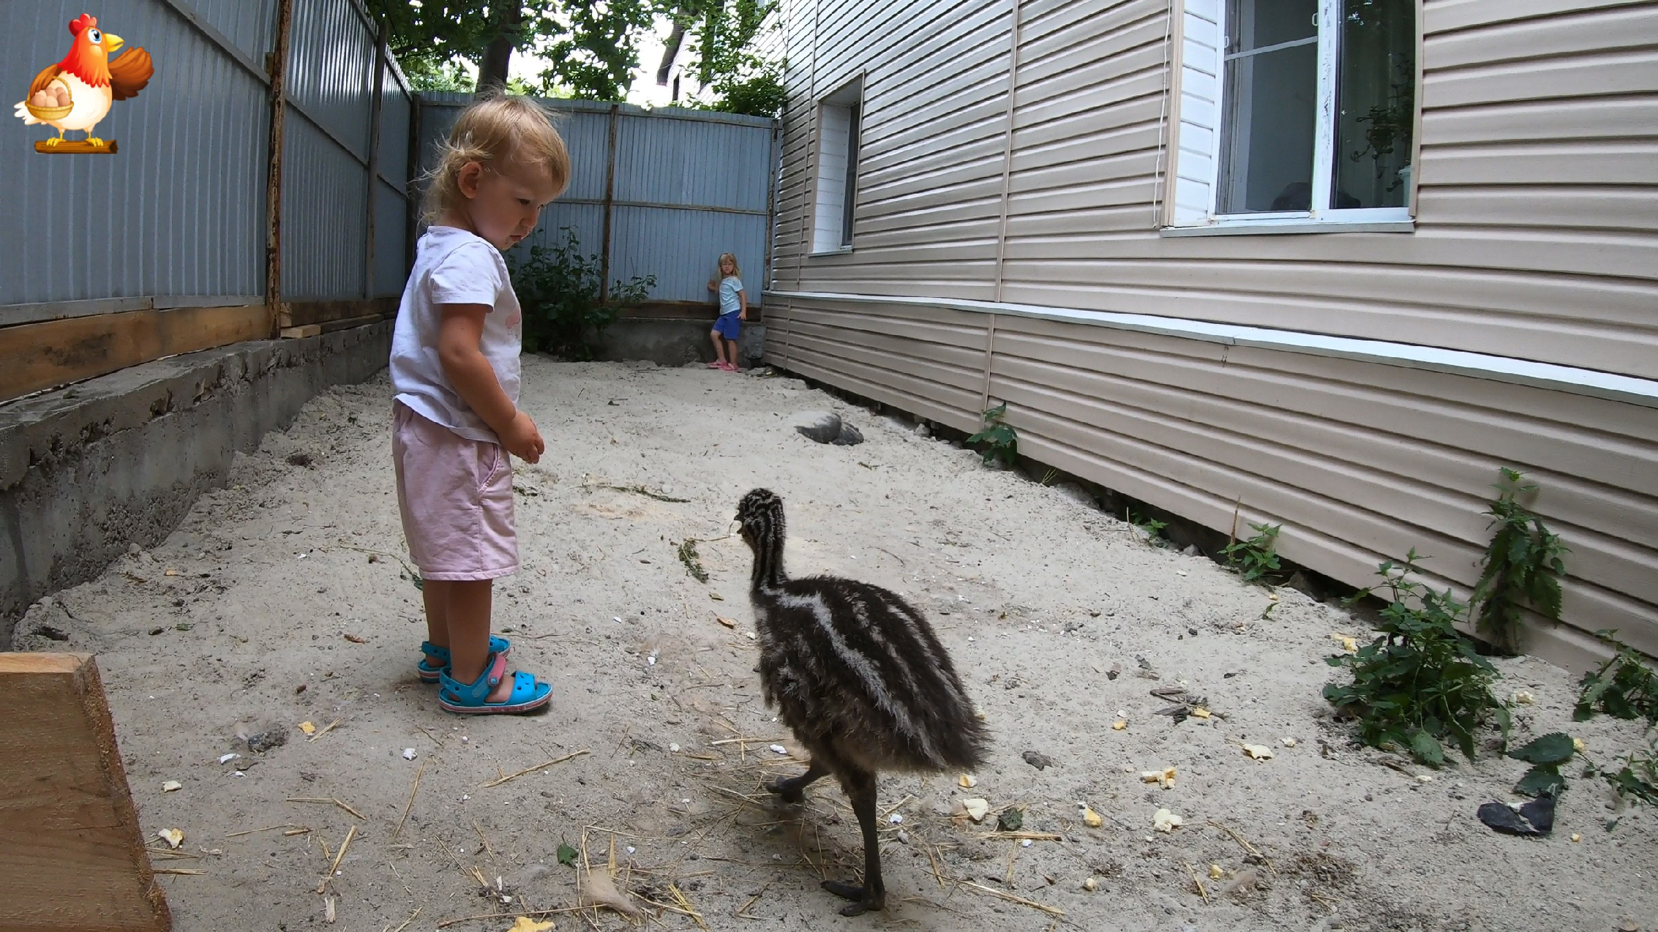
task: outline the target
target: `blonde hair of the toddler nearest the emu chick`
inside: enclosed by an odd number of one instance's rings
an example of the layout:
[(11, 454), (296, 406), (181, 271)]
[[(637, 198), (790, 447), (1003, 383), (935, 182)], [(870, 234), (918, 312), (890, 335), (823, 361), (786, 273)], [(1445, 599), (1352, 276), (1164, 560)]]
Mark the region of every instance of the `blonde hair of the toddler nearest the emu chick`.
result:
[(494, 91), (461, 111), (438, 149), (438, 164), (424, 176), (423, 219), (433, 224), (466, 201), (459, 177), (468, 163), (506, 161), (545, 169), (554, 196), (570, 184), (570, 153), (552, 126), (552, 114), (531, 98)]

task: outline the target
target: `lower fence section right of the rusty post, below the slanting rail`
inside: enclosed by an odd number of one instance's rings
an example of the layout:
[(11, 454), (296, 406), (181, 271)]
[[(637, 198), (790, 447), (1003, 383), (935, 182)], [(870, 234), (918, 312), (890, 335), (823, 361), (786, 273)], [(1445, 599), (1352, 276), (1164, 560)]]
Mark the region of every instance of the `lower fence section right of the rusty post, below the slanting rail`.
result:
[(282, 139), (282, 300), (363, 297), (366, 184), (361, 163), (310, 121), (288, 114)]

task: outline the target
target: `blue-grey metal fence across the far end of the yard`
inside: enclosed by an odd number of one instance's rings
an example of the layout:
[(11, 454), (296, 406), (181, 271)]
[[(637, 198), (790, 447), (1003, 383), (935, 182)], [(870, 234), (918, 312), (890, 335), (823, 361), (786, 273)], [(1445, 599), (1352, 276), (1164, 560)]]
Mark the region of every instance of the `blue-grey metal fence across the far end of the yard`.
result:
[[(419, 95), (419, 161), (434, 161), (471, 95)], [(570, 187), (542, 211), (531, 245), (569, 227), (600, 255), (607, 282), (655, 275), (652, 300), (708, 302), (721, 252), (733, 252), (753, 303), (771, 277), (771, 197), (779, 156), (773, 119), (594, 101), (542, 101), (559, 113)]]

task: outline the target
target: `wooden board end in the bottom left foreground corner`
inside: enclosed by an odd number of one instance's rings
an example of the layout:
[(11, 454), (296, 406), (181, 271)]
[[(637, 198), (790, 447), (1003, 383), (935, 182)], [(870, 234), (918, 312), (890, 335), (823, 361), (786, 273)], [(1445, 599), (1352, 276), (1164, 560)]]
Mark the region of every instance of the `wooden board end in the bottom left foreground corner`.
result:
[(0, 929), (172, 929), (96, 662), (0, 653)]

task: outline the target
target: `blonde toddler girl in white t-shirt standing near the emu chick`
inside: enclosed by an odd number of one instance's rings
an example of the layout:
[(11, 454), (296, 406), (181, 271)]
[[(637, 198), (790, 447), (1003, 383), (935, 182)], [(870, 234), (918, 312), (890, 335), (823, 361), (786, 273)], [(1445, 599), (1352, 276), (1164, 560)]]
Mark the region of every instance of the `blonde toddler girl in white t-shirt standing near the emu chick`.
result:
[(517, 570), (512, 463), (545, 444), (517, 410), (522, 313), (501, 252), (564, 192), (570, 156), (545, 111), (492, 96), (461, 113), (426, 194), (414, 270), (391, 337), (391, 454), (410, 557), (424, 577), (416, 670), (456, 713), (529, 711), (552, 687), (507, 673), (489, 635), (496, 577)]

